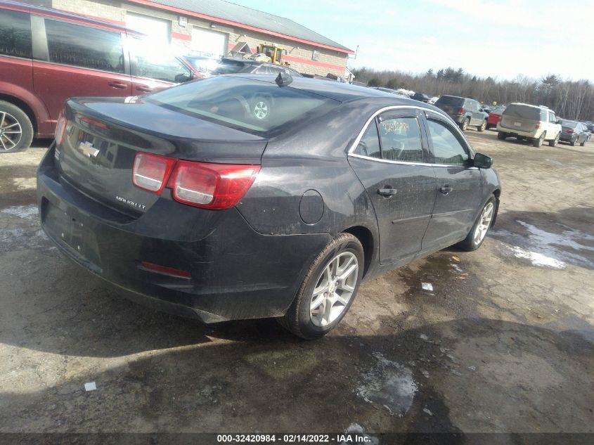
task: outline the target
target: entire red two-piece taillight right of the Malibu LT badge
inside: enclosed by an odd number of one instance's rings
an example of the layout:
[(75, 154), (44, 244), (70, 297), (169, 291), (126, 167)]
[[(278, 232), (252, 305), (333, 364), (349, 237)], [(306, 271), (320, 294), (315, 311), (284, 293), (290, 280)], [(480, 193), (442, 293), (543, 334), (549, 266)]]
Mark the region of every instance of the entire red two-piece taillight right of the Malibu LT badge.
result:
[(221, 210), (243, 198), (259, 171), (259, 165), (210, 164), (138, 153), (132, 182), (157, 195), (167, 186), (176, 201)]

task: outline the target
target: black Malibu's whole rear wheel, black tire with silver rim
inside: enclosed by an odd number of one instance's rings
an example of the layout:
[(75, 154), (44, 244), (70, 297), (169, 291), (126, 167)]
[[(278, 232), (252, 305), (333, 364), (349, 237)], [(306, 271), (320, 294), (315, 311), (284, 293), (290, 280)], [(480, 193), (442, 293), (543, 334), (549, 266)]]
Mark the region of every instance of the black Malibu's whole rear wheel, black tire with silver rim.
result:
[[(359, 240), (350, 233), (339, 233), (309, 266), (295, 301), (289, 307), (287, 314), (278, 320), (280, 324), (306, 340), (314, 340), (329, 333), (342, 320), (344, 314), (347, 314), (356, 297), (361, 278), (363, 278), (364, 259), (363, 246)], [(346, 268), (342, 272), (352, 269), (354, 261), (356, 261), (356, 269), (351, 271), (347, 278), (344, 278), (346, 283), (343, 281), (335, 288), (335, 283), (338, 280), (332, 280), (335, 277), (334, 266), (338, 264), (340, 274), (341, 269)], [(330, 266), (332, 266), (332, 270), (329, 269)], [(324, 282), (327, 286), (326, 289), (330, 285), (328, 292), (319, 292), (318, 297), (315, 298), (314, 290), (323, 289)], [(344, 289), (343, 286), (352, 288), (352, 291)], [(340, 294), (337, 293), (339, 290)], [(332, 298), (333, 301), (330, 302), (330, 309), (326, 311), (329, 302), (324, 296), (330, 294), (332, 297), (328, 298)], [(343, 295), (345, 297), (342, 297)], [(321, 302), (317, 307), (315, 307), (316, 300)]]

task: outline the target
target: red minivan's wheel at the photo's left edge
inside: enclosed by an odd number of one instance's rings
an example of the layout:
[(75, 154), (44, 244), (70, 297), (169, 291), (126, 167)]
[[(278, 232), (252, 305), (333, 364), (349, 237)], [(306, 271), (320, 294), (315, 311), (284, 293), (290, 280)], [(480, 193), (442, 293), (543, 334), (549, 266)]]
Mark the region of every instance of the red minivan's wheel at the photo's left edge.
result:
[(0, 101), (0, 153), (14, 153), (31, 146), (33, 125), (29, 116), (10, 102)]

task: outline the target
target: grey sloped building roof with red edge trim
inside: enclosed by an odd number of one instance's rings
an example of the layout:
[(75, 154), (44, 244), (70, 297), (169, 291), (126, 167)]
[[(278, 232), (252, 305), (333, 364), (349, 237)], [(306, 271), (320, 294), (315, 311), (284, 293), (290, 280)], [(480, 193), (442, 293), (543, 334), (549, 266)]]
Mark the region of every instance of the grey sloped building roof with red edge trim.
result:
[(224, 0), (128, 0), (133, 3), (165, 8), (178, 13), (195, 15), (207, 20), (235, 25), (254, 31), (264, 32), (276, 37), (301, 41), (343, 53), (353, 53), (351, 49), (299, 25), (288, 18), (280, 17), (246, 6)]

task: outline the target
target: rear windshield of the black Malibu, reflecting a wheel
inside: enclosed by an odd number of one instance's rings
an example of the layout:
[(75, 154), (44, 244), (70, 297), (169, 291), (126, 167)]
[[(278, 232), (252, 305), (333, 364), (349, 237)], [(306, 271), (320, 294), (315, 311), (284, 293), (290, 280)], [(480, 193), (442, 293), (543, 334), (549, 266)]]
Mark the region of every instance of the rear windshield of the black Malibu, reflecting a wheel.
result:
[(144, 100), (259, 136), (273, 136), (271, 133), (320, 117), (340, 105), (290, 86), (231, 76), (181, 84)]

